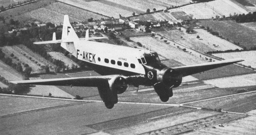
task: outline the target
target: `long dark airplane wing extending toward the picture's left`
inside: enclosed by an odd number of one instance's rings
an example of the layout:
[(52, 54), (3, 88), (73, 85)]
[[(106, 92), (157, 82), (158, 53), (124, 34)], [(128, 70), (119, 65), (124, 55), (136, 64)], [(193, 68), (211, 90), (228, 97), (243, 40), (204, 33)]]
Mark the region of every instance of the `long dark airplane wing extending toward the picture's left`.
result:
[[(36, 79), (9, 81), (9, 83), (22, 85), (55, 85), (55, 86), (87, 86), (98, 87), (108, 84), (106, 76), (90, 76), (90, 77), (70, 77), (70, 78), (54, 78), (54, 79)], [(105, 86), (105, 85), (104, 85)]]

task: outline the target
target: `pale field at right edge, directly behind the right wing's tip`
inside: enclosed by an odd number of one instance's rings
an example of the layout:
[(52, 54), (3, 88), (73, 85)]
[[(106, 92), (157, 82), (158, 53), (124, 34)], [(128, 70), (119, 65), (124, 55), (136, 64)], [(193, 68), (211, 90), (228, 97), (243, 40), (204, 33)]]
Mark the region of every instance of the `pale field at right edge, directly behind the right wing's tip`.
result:
[(213, 55), (220, 58), (224, 58), (224, 59), (242, 58), (245, 61), (242, 61), (239, 63), (246, 66), (251, 66), (252, 68), (256, 68), (256, 61), (255, 61), (256, 50), (243, 51), (243, 52), (218, 53)]

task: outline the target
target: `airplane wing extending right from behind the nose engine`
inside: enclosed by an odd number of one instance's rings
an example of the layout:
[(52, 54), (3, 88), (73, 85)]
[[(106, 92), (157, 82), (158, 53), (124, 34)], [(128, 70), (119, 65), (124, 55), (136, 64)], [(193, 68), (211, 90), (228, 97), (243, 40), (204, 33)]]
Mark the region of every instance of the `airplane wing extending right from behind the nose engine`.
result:
[(230, 65), (233, 63), (237, 63), (240, 61), (244, 61), (243, 59), (228, 59), (228, 60), (222, 60), (222, 61), (215, 61), (215, 62), (209, 62), (209, 63), (202, 63), (202, 64), (196, 64), (196, 65), (188, 65), (188, 66), (182, 66), (182, 67), (174, 67), (174, 71), (182, 74), (184, 76), (189, 76), (192, 74), (204, 72), (210, 69), (223, 67), (226, 65)]

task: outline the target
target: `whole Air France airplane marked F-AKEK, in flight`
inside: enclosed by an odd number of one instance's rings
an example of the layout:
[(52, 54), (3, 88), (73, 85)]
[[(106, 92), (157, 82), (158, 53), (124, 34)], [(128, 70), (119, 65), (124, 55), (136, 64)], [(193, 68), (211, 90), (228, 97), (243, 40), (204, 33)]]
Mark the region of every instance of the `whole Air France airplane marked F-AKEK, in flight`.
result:
[(70, 25), (69, 16), (64, 15), (61, 40), (56, 40), (54, 33), (53, 40), (34, 44), (61, 43), (61, 47), (77, 59), (85, 61), (102, 76), (21, 80), (10, 83), (98, 87), (102, 101), (111, 109), (118, 102), (117, 94), (124, 93), (128, 85), (153, 86), (161, 101), (167, 102), (173, 96), (173, 88), (182, 83), (182, 77), (244, 61), (238, 58), (170, 68), (161, 63), (157, 52), (90, 41), (102, 38), (104, 37), (90, 38), (89, 30), (86, 31), (85, 38), (78, 38)]

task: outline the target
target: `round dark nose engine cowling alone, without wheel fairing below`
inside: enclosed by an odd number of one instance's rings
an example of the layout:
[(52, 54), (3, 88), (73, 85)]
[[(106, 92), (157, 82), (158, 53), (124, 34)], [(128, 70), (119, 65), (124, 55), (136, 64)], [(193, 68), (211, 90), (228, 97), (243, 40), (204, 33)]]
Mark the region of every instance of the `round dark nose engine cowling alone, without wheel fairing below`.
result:
[(157, 81), (167, 87), (175, 88), (182, 83), (182, 75), (177, 74), (172, 68), (163, 68), (158, 72)]

